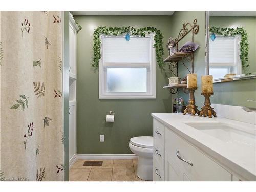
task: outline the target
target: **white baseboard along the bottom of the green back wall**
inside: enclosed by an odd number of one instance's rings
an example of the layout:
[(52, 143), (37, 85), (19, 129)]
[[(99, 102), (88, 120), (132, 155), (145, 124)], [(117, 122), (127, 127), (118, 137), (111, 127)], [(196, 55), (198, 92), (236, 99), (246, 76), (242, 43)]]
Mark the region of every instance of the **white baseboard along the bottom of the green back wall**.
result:
[(136, 159), (135, 154), (77, 154), (76, 159)]

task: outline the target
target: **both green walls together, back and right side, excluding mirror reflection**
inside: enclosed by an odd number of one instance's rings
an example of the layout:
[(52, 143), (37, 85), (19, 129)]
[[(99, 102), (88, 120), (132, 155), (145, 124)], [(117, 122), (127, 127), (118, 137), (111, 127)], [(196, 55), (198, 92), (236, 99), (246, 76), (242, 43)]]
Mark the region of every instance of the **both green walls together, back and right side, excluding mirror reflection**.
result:
[[(132, 153), (128, 146), (131, 137), (153, 135), (151, 113), (172, 112), (174, 96), (188, 100), (188, 94), (183, 90), (171, 95), (162, 88), (168, 84), (168, 77), (172, 76), (167, 65), (163, 70), (156, 67), (156, 99), (98, 99), (98, 70), (91, 67), (94, 29), (98, 26), (156, 27), (163, 33), (166, 57), (165, 43), (169, 36), (177, 37), (183, 23), (193, 23), (195, 18), (200, 27), (194, 37), (200, 46), (194, 57), (194, 72), (198, 75), (195, 97), (196, 105), (201, 109), (204, 102), (201, 75), (205, 75), (205, 12), (177, 11), (173, 16), (75, 16), (82, 26), (77, 35), (77, 154)], [(191, 36), (185, 37), (180, 45), (188, 40), (191, 40)], [(179, 76), (183, 78), (187, 73), (179, 63)], [(255, 84), (256, 79), (216, 83), (211, 101), (251, 107), (254, 103), (246, 99), (256, 98)], [(114, 123), (105, 122), (105, 115), (110, 110), (116, 114)], [(105, 135), (105, 142), (99, 142), (100, 134)]]

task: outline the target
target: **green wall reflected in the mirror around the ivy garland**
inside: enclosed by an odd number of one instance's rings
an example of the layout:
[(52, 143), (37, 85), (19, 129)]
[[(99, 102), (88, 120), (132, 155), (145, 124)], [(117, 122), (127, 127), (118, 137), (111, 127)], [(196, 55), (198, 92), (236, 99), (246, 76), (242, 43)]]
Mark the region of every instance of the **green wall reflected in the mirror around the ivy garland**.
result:
[(243, 27), (248, 34), (249, 44), (249, 67), (245, 68), (245, 73), (256, 74), (256, 17), (224, 17), (210, 16), (210, 27)]

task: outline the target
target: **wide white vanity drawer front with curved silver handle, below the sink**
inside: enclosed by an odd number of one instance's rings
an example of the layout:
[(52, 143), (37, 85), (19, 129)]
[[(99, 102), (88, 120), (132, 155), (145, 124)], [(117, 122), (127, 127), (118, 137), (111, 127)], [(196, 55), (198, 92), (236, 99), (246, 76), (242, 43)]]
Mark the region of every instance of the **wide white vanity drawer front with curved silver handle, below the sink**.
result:
[[(231, 174), (180, 136), (165, 128), (166, 153), (191, 181), (231, 181)], [(179, 153), (177, 154), (177, 150)], [(182, 161), (180, 158), (192, 163)]]

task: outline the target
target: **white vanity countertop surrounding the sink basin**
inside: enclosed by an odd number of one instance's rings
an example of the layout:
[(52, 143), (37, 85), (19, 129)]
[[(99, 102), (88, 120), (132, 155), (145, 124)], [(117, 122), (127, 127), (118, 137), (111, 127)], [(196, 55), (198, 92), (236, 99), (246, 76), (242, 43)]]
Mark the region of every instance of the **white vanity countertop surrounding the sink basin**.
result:
[(233, 173), (246, 180), (256, 181), (256, 140), (252, 147), (238, 146), (226, 143), (185, 123), (225, 123), (253, 135), (256, 135), (256, 125), (221, 117), (210, 119), (188, 114), (152, 113), (152, 116)]

